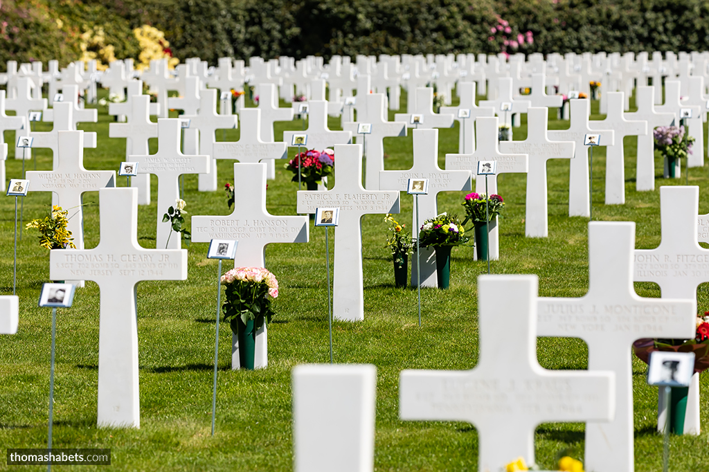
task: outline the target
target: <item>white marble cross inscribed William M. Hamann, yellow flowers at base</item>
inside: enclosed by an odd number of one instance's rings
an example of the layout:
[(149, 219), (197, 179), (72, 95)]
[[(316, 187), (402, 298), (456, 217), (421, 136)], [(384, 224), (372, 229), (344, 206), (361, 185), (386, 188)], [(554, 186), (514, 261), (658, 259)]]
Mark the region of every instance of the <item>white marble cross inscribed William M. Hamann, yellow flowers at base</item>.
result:
[[(59, 105), (60, 103), (56, 103)], [(84, 169), (84, 131), (57, 132), (57, 156), (51, 171), (28, 171), (29, 191), (52, 192), (55, 205), (69, 211), (67, 229), (74, 245), (84, 249), (82, 194), (116, 186), (116, 171)], [(73, 249), (67, 249), (73, 250)]]

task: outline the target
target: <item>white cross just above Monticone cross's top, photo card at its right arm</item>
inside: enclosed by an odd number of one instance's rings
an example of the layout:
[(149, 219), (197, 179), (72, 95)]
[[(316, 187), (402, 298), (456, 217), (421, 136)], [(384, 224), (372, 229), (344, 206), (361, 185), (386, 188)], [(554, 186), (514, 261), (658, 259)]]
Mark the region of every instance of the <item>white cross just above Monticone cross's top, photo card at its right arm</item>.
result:
[(588, 99), (570, 100), (569, 129), (549, 131), (552, 141), (576, 142), (576, 153), (569, 166), (569, 216), (590, 216), (591, 197), (588, 183), (588, 146), (584, 145), (587, 133), (600, 135), (601, 146), (610, 147), (615, 144), (613, 130), (598, 130), (591, 128), (588, 116), (591, 111), (591, 101)]

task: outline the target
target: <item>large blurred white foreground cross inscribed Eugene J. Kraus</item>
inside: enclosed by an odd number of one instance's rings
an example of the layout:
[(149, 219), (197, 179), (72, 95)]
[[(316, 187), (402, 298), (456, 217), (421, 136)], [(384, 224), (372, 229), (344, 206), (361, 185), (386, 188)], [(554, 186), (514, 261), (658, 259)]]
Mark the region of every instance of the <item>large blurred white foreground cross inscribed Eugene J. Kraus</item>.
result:
[(533, 463), (541, 423), (609, 421), (615, 412), (613, 373), (539, 365), (537, 291), (534, 275), (479, 276), (478, 364), (468, 371), (404, 370), (399, 376), (402, 420), (475, 425), (480, 472), (504, 470), (520, 456)]

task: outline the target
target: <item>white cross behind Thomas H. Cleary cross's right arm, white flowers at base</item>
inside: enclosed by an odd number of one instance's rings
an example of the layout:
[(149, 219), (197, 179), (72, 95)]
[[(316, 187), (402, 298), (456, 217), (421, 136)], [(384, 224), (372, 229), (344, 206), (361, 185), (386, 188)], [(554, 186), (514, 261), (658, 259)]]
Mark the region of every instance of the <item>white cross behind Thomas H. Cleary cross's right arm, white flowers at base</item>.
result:
[(179, 198), (179, 176), (182, 174), (203, 174), (209, 172), (209, 156), (182, 154), (180, 145), (180, 122), (178, 118), (157, 120), (157, 153), (135, 154), (128, 157), (138, 162), (138, 174), (157, 175), (157, 232), (155, 247), (170, 249), (182, 247), (182, 235), (170, 235), (172, 226), (162, 221), (162, 215), (169, 207), (174, 207)]

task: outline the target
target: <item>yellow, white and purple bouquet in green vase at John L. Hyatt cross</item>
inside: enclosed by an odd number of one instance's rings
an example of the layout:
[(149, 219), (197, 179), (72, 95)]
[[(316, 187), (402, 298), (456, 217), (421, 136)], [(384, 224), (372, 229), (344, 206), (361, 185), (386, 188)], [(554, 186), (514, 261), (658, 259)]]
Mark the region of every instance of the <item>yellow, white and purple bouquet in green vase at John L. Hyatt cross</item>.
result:
[(450, 251), (453, 246), (470, 240), (457, 215), (441, 213), (423, 222), (418, 234), (420, 247), (433, 247), (436, 252), (436, 271), (439, 288), (450, 285)]

